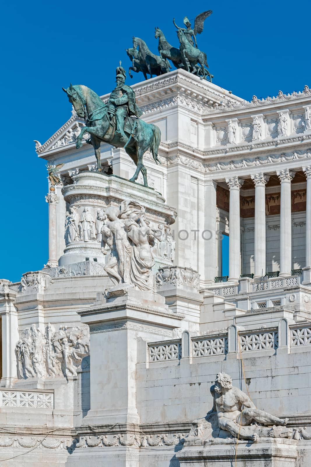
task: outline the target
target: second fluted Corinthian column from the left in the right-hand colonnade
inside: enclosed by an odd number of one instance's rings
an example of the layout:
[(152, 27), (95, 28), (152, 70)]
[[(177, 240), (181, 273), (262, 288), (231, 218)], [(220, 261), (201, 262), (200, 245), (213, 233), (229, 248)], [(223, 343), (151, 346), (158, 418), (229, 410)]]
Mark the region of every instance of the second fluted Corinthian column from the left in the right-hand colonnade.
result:
[(265, 186), (269, 180), (263, 173), (252, 175), (255, 184), (255, 277), (266, 273)]

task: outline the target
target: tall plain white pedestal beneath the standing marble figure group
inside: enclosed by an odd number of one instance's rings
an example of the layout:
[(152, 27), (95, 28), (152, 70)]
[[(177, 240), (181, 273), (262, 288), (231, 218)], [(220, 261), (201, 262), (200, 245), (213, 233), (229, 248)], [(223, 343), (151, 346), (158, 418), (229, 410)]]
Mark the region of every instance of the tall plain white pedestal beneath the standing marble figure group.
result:
[[(107, 296), (107, 294), (106, 294)], [(90, 326), (90, 410), (83, 425), (138, 424), (136, 407), (137, 340), (164, 340), (181, 326), (157, 293), (120, 288), (97, 294), (90, 309), (78, 311)]]

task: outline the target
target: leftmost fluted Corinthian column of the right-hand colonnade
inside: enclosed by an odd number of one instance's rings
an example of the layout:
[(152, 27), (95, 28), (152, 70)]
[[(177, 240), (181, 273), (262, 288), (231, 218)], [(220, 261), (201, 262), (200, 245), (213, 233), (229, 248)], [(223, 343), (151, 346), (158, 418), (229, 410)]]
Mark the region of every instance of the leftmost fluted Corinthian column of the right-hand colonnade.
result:
[(240, 188), (244, 180), (226, 178), (230, 190), (229, 204), (229, 281), (237, 281), (241, 275), (240, 237)]

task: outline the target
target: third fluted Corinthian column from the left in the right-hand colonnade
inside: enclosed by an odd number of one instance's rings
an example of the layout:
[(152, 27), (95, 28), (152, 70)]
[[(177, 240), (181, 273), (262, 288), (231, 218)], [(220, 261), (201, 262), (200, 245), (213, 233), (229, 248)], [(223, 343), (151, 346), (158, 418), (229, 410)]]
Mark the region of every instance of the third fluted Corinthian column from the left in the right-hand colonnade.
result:
[(295, 172), (285, 169), (276, 172), (281, 181), (280, 215), (280, 276), (291, 275), (291, 194), (290, 183)]

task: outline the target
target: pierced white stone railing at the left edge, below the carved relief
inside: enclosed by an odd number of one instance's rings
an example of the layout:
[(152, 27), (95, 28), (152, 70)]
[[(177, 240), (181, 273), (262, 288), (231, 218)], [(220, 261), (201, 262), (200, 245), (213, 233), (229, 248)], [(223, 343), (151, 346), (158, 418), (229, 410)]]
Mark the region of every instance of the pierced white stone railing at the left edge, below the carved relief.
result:
[(0, 407), (54, 409), (54, 391), (0, 389)]

